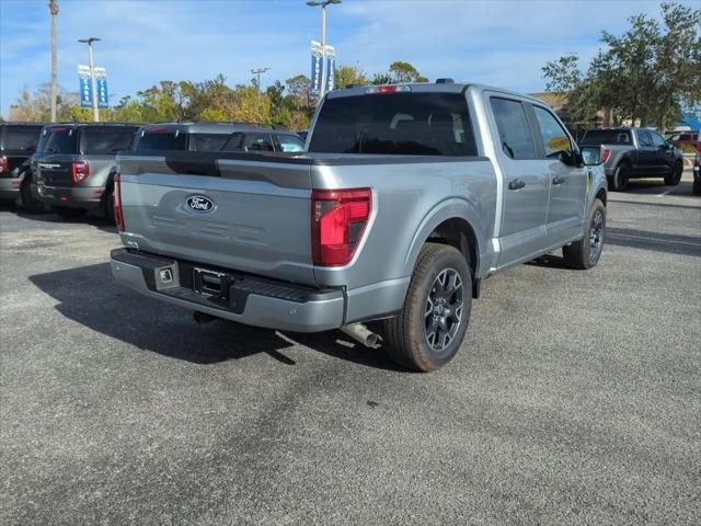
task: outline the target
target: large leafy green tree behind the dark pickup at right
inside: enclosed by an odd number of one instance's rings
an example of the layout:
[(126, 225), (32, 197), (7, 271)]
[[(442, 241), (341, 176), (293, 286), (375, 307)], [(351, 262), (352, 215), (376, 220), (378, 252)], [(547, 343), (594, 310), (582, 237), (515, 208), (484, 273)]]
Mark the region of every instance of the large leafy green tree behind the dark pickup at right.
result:
[(701, 10), (677, 3), (660, 9), (662, 24), (637, 14), (621, 36), (604, 32), (606, 48), (585, 75), (576, 55), (545, 64), (547, 90), (566, 92), (579, 117), (611, 108), (617, 123), (652, 123), (664, 133), (682, 107), (701, 100)]

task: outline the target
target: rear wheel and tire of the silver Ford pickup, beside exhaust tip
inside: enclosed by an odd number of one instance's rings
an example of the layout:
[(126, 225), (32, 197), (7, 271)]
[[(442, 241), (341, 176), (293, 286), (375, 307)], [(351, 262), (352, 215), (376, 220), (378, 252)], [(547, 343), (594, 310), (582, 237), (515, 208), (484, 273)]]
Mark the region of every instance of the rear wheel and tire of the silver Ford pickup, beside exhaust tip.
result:
[(412, 370), (428, 373), (443, 367), (460, 348), (471, 307), (472, 276), (464, 255), (446, 244), (426, 243), (402, 311), (384, 320), (387, 353)]

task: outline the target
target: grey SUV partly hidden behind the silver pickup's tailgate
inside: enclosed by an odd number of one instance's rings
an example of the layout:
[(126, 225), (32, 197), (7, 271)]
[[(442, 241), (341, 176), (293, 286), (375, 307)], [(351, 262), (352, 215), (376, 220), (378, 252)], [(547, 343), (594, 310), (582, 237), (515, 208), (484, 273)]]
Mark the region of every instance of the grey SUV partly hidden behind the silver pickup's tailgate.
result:
[(277, 125), (249, 123), (160, 123), (147, 125), (134, 149), (181, 151), (303, 151), (297, 134)]

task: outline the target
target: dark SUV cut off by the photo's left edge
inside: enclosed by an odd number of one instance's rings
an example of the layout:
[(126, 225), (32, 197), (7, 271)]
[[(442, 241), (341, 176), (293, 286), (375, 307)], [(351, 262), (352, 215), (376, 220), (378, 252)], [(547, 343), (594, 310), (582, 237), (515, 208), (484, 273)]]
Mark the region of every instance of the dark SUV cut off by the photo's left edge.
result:
[(12, 199), (31, 211), (42, 208), (32, 197), (30, 158), (36, 151), (44, 124), (0, 124), (0, 198)]

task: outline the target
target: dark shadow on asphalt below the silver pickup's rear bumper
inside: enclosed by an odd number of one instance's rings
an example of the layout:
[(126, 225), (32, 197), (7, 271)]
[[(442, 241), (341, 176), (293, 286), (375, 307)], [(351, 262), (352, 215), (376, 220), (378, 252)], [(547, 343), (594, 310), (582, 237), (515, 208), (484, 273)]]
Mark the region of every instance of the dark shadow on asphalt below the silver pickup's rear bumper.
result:
[(359, 365), (402, 370), (381, 350), (365, 348), (341, 331), (281, 333), (225, 320), (196, 324), (186, 310), (118, 285), (112, 278), (108, 263), (36, 274), (30, 281), (58, 301), (56, 309), (66, 318), (172, 358), (208, 365), (266, 353), (278, 362), (295, 365), (284, 351), (299, 344)]

